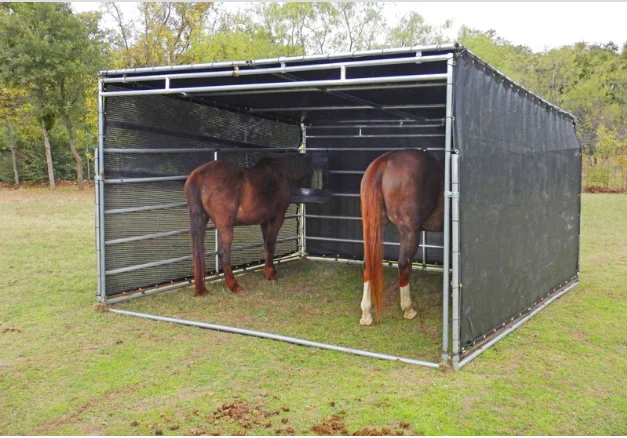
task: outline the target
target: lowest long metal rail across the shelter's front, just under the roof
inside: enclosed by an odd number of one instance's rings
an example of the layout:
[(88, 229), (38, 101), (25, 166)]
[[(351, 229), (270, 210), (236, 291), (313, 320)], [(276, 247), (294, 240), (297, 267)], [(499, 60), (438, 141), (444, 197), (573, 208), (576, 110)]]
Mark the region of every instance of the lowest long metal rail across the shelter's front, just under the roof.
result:
[(182, 87), (169, 89), (140, 89), (126, 91), (103, 91), (101, 96), (146, 96), (154, 94), (194, 94), (211, 91), (233, 91), (233, 90), (274, 90), (281, 88), (302, 88), (302, 87), (325, 87), (336, 85), (357, 85), (357, 84), (380, 84), (387, 82), (419, 82), (419, 81), (440, 81), (446, 79), (445, 73), (423, 74), (423, 75), (407, 75), (407, 76), (387, 76), (375, 78), (359, 78), (359, 79), (331, 79), (331, 80), (315, 80), (300, 82), (271, 82), (258, 84), (238, 84), (238, 85), (213, 85), (207, 87)]

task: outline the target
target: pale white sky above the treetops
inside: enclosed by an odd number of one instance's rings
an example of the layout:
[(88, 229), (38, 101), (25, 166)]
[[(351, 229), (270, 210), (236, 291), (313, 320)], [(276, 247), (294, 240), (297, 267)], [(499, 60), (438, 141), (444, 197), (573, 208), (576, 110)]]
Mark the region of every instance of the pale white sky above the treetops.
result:
[[(241, 5), (241, 3), (239, 3)], [(75, 11), (98, 10), (97, 2), (73, 2)], [(238, 4), (233, 3), (233, 8)], [(124, 2), (128, 17), (134, 10), (132, 2)], [(462, 24), (479, 30), (494, 29), (514, 44), (522, 44), (536, 52), (580, 41), (614, 42), (619, 47), (627, 42), (627, 3), (461, 3), (461, 2), (397, 2), (388, 8), (388, 22), (393, 23), (410, 11), (419, 12), (432, 25), (453, 20), (451, 37), (455, 39)], [(111, 22), (109, 22), (111, 23)]]

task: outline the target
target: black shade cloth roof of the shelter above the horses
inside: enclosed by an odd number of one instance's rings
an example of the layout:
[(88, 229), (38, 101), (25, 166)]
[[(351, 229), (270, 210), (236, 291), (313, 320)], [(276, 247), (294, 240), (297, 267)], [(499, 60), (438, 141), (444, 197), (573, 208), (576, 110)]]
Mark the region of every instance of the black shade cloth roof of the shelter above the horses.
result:
[[(333, 85), (302, 87), (298, 89), (247, 89), (236, 91), (198, 90), (190, 88), (220, 87), (244, 84), (279, 84), (302, 81), (325, 81), (340, 79), (340, 67), (316, 69), (320, 64), (340, 64), (355, 61), (386, 61), (416, 58), (414, 63), (392, 63), (370, 66), (348, 66), (346, 79), (367, 79), (381, 77), (399, 77), (407, 75), (444, 75), (447, 71), (446, 60), (420, 62), (420, 58), (437, 57), (447, 53), (468, 53), (473, 59), (490, 68), (494, 74), (510, 81), (512, 85), (524, 90), (518, 84), (507, 79), (497, 70), (483, 63), (463, 46), (455, 43), (435, 46), (414, 46), (397, 49), (339, 53), (327, 55), (299, 56), (250, 61), (219, 62), (212, 64), (146, 67), (126, 70), (108, 70), (100, 73), (104, 79), (103, 91), (114, 83), (116, 90), (146, 90), (185, 88), (179, 97), (193, 99), (196, 102), (217, 108), (230, 109), (263, 118), (286, 121), (289, 123), (324, 124), (338, 120), (413, 120), (417, 122), (445, 117), (446, 80), (425, 82), (389, 82), (360, 85)], [(297, 67), (299, 71), (277, 73), (277, 69)], [(308, 68), (310, 67), (310, 68)], [(300, 70), (302, 68), (302, 70)], [(272, 73), (248, 74), (255, 70), (275, 69)], [(185, 77), (197, 73), (224, 72), (228, 76)], [(166, 81), (165, 75), (171, 76)], [(113, 82), (115, 81), (115, 82)], [(167, 82), (167, 83), (166, 83)], [(529, 93), (528, 90), (524, 92)], [(175, 94), (176, 95), (176, 94)], [(538, 97), (539, 102), (553, 105)], [(423, 107), (426, 105), (427, 107)], [(434, 106), (435, 105), (435, 106)], [(572, 115), (567, 114), (571, 118)]]

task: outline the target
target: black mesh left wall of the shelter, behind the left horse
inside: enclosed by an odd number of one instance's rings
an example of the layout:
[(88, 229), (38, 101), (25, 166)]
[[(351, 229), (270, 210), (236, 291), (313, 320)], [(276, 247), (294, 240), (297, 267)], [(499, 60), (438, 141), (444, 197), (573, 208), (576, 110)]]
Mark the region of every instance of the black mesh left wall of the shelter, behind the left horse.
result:
[[(214, 158), (207, 148), (298, 147), (298, 126), (257, 119), (195, 102), (168, 96), (109, 97), (105, 102), (105, 178), (146, 178), (186, 176)], [(198, 151), (164, 152), (164, 148)], [(120, 153), (112, 149), (144, 149), (141, 153)], [(157, 151), (153, 153), (150, 151)], [(218, 153), (218, 159), (250, 167), (263, 152)], [(113, 296), (139, 288), (190, 278), (193, 274), (189, 217), (183, 193), (184, 181), (105, 184), (105, 263), (106, 293)], [(183, 204), (173, 206), (172, 204)], [(141, 211), (115, 211), (153, 207)], [(296, 213), (296, 206), (289, 214)], [(212, 224), (209, 223), (211, 227)], [(297, 219), (285, 221), (279, 239), (297, 235)], [(153, 236), (160, 233), (175, 235)], [(150, 238), (146, 238), (150, 237)], [(133, 241), (119, 239), (140, 238)], [(258, 244), (256, 248), (234, 251), (234, 268), (257, 263), (264, 258), (259, 226), (236, 227), (233, 248)], [(205, 238), (207, 252), (216, 250), (215, 231)], [(277, 244), (276, 255), (298, 249), (296, 240)], [(159, 264), (159, 262), (168, 263)], [(208, 255), (207, 273), (216, 270), (215, 255)], [(157, 266), (142, 267), (156, 263)], [(131, 268), (130, 271), (124, 271)], [(120, 272), (122, 271), (122, 272)]]

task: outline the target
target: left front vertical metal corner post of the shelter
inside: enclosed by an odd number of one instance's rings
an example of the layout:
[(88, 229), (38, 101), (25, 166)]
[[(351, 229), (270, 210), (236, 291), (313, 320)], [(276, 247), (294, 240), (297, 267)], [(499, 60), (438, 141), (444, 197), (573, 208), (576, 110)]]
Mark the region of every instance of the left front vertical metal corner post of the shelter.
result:
[(102, 304), (107, 303), (106, 288), (106, 263), (105, 263), (105, 221), (104, 221), (104, 96), (102, 95), (102, 78), (98, 79), (98, 150), (94, 151), (98, 157), (96, 165), (96, 173), (94, 175), (95, 190), (98, 199), (97, 217), (97, 235), (98, 240), (96, 251), (98, 253), (98, 301)]

